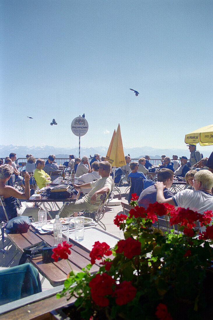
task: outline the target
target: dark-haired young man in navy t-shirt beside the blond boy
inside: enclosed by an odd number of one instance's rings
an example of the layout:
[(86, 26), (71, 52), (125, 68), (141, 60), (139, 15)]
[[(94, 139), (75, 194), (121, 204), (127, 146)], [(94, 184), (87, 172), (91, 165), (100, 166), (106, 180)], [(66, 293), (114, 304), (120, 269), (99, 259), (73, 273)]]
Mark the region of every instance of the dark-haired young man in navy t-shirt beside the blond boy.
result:
[[(168, 189), (171, 188), (173, 182), (173, 171), (170, 169), (161, 169), (158, 172), (157, 180), (162, 181), (166, 188), (163, 190), (163, 195), (165, 199), (173, 197), (173, 193)], [(150, 203), (155, 203), (157, 197), (157, 189), (155, 186), (150, 186), (144, 189), (138, 199), (138, 205), (140, 207), (144, 207), (145, 209), (148, 208)]]

